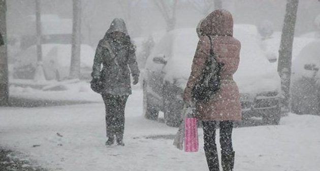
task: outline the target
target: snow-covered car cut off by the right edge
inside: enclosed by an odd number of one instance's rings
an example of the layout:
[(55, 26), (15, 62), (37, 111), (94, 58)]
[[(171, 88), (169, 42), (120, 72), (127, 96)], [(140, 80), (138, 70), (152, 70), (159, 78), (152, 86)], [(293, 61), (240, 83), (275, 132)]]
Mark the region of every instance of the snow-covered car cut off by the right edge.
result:
[(320, 40), (306, 45), (292, 63), (291, 108), (295, 113), (319, 115)]

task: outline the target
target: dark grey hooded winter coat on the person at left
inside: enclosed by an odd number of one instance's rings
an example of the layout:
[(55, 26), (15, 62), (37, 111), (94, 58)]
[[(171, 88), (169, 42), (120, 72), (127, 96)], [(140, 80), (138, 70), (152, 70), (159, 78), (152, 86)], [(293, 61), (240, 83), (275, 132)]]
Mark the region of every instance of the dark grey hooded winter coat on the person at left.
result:
[[(113, 32), (121, 32), (124, 36), (120, 40), (114, 40), (110, 36)], [(104, 38), (99, 41), (91, 75), (101, 77), (103, 82), (101, 94), (122, 96), (132, 94), (130, 73), (133, 77), (139, 77), (135, 47), (127, 33), (124, 21), (115, 18)]]

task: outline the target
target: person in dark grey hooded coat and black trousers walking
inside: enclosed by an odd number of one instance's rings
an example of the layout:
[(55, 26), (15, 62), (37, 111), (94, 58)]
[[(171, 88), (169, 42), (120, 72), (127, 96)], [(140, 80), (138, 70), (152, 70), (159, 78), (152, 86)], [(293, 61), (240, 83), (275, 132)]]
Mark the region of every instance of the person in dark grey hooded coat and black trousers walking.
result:
[(114, 144), (115, 137), (117, 145), (124, 146), (124, 108), (132, 94), (130, 73), (133, 84), (137, 84), (140, 71), (135, 47), (124, 21), (115, 18), (98, 44), (91, 73), (93, 79), (99, 79), (103, 85), (101, 95), (106, 107), (107, 146)]

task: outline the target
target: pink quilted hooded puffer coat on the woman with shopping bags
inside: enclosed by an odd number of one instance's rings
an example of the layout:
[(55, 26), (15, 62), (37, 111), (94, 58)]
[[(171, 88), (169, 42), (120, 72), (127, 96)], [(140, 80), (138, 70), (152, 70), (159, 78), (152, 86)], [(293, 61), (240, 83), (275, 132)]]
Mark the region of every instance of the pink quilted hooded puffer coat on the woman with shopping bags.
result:
[(191, 74), (184, 90), (184, 99), (190, 101), (191, 91), (203, 74), (206, 59), (210, 56), (210, 39), (212, 49), (221, 69), (220, 89), (208, 102), (197, 102), (197, 117), (202, 121), (236, 121), (241, 120), (240, 95), (233, 74), (237, 71), (240, 56), (240, 42), (233, 38), (232, 15), (226, 10), (210, 13), (200, 26), (201, 38), (194, 56)]

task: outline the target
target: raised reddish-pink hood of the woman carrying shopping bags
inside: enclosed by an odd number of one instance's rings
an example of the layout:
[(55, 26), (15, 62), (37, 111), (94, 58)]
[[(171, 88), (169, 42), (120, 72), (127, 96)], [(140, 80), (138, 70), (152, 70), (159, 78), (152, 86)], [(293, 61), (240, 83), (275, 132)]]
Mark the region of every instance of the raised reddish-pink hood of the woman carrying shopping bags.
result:
[(200, 26), (202, 36), (233, 36), (233, 18), (227, 10), (215, 10)]

